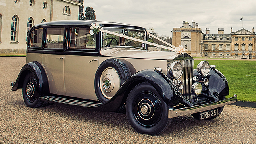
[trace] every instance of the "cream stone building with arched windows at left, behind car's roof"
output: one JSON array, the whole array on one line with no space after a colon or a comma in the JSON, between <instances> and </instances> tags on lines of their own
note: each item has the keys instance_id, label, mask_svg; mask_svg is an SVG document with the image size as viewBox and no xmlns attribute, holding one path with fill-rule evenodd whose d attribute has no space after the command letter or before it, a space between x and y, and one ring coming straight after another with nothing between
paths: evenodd
<instances>
[{"instance_id":1,"label":"cream stone building with arched windows at left, behind car's roof","mask_svg":"<svg viewBox=\"0 0 256 144\"><path fill-rule=\"evenodd\" d=\"M27 33L41 22L77 20L79 0L0 0L0 54L26 53Z\"/></svg>"}]
</instances>

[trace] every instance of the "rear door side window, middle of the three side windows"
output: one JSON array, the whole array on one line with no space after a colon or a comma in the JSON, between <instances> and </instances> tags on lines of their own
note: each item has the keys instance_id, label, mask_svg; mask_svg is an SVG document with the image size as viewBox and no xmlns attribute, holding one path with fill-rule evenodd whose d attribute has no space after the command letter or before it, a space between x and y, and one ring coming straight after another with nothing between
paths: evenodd
<instances>
[{"instance_id":1,"label":"rear door side window, middle of the three side windows","mask_svg":"<svg viewBox=\"0 0 256 144\"><path fill-rule=\"evenodd\" d=\"M64 41L65 28L47 28L46 29L46 49L62 49Z\"/></svg>"}]
</instances>

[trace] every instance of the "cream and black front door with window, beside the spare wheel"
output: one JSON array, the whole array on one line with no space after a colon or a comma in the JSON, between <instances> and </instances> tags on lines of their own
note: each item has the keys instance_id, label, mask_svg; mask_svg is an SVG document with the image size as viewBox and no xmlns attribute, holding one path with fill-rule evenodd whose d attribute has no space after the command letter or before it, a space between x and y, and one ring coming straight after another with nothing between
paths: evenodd
<instances>
[{"instance_id":1,"label":"cream and black front door with window, beside the spare wheel","mask_svg":"<svg viewBox=\"0 0 256 144\"><path fill-rule=\"evenodd\" d=\"M69 28L69 42L65 50L64 82L66 96L97 100L94 77L98 69L96 34L89 34L89 26Z\"/></svg>"}]
</instances>

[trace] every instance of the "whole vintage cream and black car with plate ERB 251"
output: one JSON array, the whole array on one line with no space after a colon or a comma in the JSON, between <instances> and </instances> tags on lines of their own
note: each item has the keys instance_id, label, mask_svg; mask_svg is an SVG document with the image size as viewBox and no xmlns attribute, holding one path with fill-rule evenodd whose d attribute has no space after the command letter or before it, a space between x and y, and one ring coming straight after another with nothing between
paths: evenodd
<instances>
[{"instance_id":1,"label":"whole vintage cream and black car with plate ERB 251","mask_svg":"<svg viewBox=\"0 0 256 144\"><path fill-rule=\"evenodd\" d=\"M148 42L152 34L145 28L97 23L65 20L31 28L26 64L11 83L14 91L23 89L28 107L43 101L97 111L126 107L135 130L155 135L174 117L211 120L236 101L236 95L226 99L228 82L207 61L193 69L187 53ZM150 45L172 51L148 51Z\"/></svg>"}]
</instances>

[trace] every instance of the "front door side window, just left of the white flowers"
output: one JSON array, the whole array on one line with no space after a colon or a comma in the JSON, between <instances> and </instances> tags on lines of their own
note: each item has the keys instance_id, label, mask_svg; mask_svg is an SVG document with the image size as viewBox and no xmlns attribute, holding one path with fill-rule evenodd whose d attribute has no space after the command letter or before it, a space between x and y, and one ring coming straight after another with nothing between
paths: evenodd
<instances>
[{"instance_id":1,"label":"front door side window, just left of the white flowers","mask_svg":"<svg viewBox=\"0 0 256 144\"><path fill-rule=\"evenodd\" d=\"M90 28L70 28L69 49L96 49L96 34L90 34Z\"/></svg>"}]
</instances>

